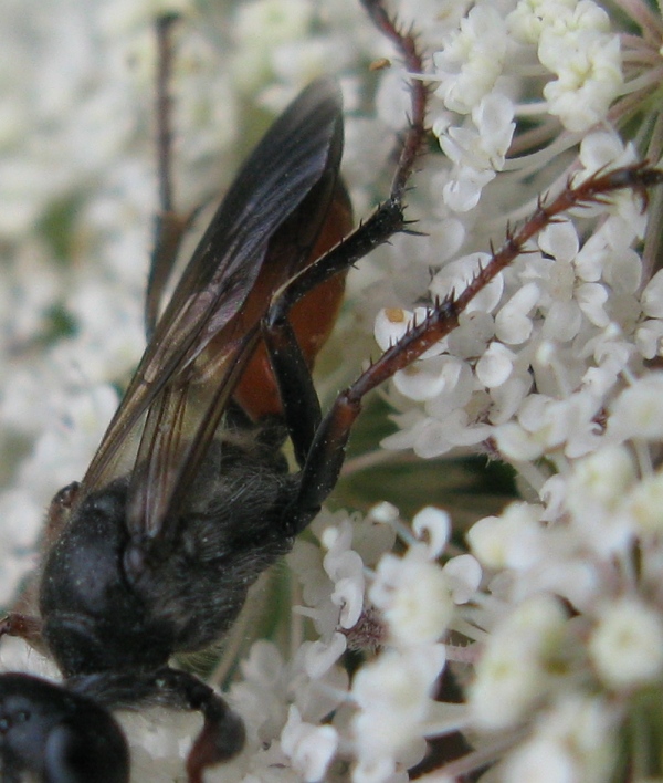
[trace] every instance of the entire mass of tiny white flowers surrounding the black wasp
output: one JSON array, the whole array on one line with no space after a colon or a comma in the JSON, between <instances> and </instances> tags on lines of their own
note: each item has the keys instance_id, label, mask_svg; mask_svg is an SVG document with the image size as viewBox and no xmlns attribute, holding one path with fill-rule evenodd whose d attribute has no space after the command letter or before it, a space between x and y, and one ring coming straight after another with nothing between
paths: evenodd
<instances>
[{"instance_id":1,"label":"entire mass of tiny white flowers surrounding the black wasp","mask_svg":"<svg viewBox=\"0 0 663 783\"><path fill-rule=\"evenodd\" d=\"M639 39L620 35L593 0L386 2L434 52L429 119L443 155L422 160L409 195L425 236L397 237L348 281L359 306L339 323L344 367L325 393L369 355L376 314L385 349L423 320L422 303L457 295L485 268L491 240L526 220L540 192L661 157L651 106L663 22L642 3L619 3L644 28ZM348 109L344 176L365 213L385 194L409 112L397 67L375 76L377 118L367 112L364 65L393 52L355 0L28 4L32 13L9 0L0 30L6 604L34 565L41 510L84 472L143 347L155 14L182 14L183 207L229 181L251 121L334 70ZM631 129L642 119L631 142L615 130L622 119ZM528 502L476 521L469 551L424 492L411 525L388 505L366 518L323 512L288 557L301 585L290 649L255 643L230 690L246 749L207 780L404 783L408 769L433 769L427 748L434 756L438 738L456 732L472 748L438 758L428 780L488 765L486 781L601 783L629 753L640 763L648 743L661 758L663 376L652 367L663 355L663 271L661 219L648 229L643 206L643 194L624 191L548 225L455 331L397 374L385 396L399 431L385 446L488 453L515 468ZM35 652L21 662L6 640L0 657L11 669L45 666ZM446 700L446 677L461 703ZM140 717L124 720L136 781L181 775L198 716L167 739L130 722Z\"/></svg>"}]
</instances>

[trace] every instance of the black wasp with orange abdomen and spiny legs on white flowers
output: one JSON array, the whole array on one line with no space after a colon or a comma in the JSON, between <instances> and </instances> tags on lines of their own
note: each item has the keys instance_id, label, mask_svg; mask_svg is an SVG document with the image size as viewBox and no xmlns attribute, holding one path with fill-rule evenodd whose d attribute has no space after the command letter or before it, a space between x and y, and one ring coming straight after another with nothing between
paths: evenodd
<instances>
[{"instance_id":1,"label":"black wasp with orange abdomen and spiny legs on white flowers","mask_svg":"<svg viewBox=\"0 0 663 783\"><path fill-rule=\"evenodd\" d=\"M420 72L413 39L380 0L365 6ZM422 83L412 98L391 195L350 231L339 92L332 80L311 84L238 174L164 313L148 315L154 333L85 477L52 501L39 617L13 614L0 628L45 647L64 677L62 687L0 677L7 783L24 773L127 781L126 740L109 712L123 707L202 712L191 783L242 749L241 719L168 664L227 633L248 588L334 488L361 397L403 365L361 376L322 417L311 366L344 274L404 230L402 194L424 137ZM170 265L164 274L155 259L152 314Z\"/></svg>"}]
</instances>

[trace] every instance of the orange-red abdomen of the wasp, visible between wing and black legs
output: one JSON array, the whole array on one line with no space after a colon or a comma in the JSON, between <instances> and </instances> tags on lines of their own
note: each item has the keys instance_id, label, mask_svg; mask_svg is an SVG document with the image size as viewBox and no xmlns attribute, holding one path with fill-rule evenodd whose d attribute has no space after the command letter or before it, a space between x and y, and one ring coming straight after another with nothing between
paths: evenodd
<instances>
[{"instance_id":1,"label":"orange-red abdomen of the wasp, visible between wing and black legs","mask_svg":"<svg viewBox=\"0 0 663 783\"><path fill-rule=\"evenodd\" d=\"M352 215L345 188L338 188L337 198L332 202L320 234L305 267L330 250L346 237L352 228ZM264 270L265 276L270 271ZM326 283L316 286L292 309L290 322L295 331L302 353L309 368L315 357L334 328L343 302L346 274L337 274ZM259 276L255 290L267 284L263 273ZM270 366L267 352L261 341L242 374L234 392L234 399L252 419L257 420L267 414L281 414L276 380Z\"/></svg>"}]
</instances>

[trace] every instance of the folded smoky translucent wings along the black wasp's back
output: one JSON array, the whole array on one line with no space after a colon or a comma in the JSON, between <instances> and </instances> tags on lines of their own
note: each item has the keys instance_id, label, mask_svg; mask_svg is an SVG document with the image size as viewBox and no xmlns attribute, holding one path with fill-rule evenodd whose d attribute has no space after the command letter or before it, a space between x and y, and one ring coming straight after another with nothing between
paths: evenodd
<instances>
[{"instance_id":1,"label":"folded smoky translucent wings along the black wasp's back","mask_svg":"<svg viewBox=\"0 0 663 783\"><path fill-rule=\"evenodd\" d=\"M83 480L86 494L125 472L125 450L136 448L144 425L129 498L133 535L159 535L186 492L272 293L319 231L341 148L338 87L318 80L267 130L193 252ZM270 284L252 296L261 274Z\"/></svg>"}]
</instances>

